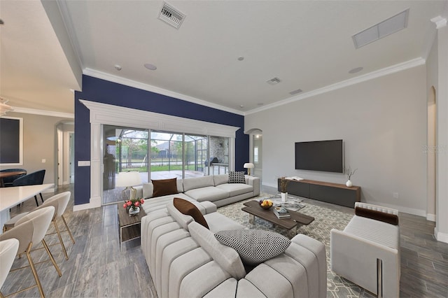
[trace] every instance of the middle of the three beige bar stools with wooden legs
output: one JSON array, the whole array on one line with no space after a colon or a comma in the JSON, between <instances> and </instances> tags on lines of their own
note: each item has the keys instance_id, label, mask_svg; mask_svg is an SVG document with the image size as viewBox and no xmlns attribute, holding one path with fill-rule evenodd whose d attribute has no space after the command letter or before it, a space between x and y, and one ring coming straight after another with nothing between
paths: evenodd
<instances>
[{"instance_id":1,"label":"middle of the three beige bar stools with wooden legs","mask_svg":"<svg viewBox=\"0 0 448 298\"><path fill-rule=\"evenodd\" d=\"M37 287L39 293L41 294L41 297L45 297L43 294L43 288L41 285L41 281L38 278L36 267L34 265L33 259L31 257L31 249L34 245L37 243L42 243L43 247L47 251L48 256L50 257L50 260L55 267L57 274L62 276L62 272L57 267L57 264L55 262L55 258L52 256L50 249L47 246L47 243L43 239L45 236L45 233L48 230L48 227L50 226L51 220L53 218L53 215L55 214L55 207L48 206L45 208L40 208L36 211L30 212L24 217L20 218L17 225L13 227L13 229L10 229L6 231L5 233L0 235L0 241L6 240L6 239L18 239L19 241L19 248L18 248L18 255L26 254L27 259L29 262L29 266L31 267L31 271L34 276L34 280L36 281L36 285L31 285L28 288L19 290L18 292L11 293L10 295L17 294L19 292L25 292L26 290L29 290L31 288ZM25 267L20 267L18 269L23 269ZM14 269L12 271L18 270ZM7 296L10 296L7 295Z\"/></svg>"}]
</instances>

